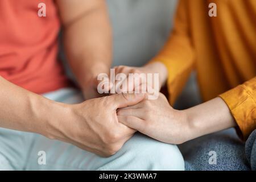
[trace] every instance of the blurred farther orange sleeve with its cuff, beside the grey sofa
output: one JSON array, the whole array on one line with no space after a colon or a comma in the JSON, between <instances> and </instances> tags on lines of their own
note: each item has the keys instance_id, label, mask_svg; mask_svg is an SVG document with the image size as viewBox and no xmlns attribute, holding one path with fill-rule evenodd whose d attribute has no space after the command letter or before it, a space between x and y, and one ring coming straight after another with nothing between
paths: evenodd
<instances>
[{"instance_id":1,"label":"blurred farther orange sleeve with its cuff, beside the grey sofa","mask_svg":"<svg viewBox=\"0 0 256 182\"><path fill-rule=\"evenodd\" d=\"M195 59L189 35L187 7L187 0L179 1L174 30L162 51L151 61L163 63L168 69L167 88L171 104L174 104L183 89Z\"/></svg>"}]
</instances>

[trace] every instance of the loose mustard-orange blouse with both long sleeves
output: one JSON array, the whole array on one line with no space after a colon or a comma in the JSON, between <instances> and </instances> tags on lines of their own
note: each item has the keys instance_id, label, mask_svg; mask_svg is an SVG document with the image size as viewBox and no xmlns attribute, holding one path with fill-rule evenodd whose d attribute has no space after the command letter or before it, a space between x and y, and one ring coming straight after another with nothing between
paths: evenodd
<instances>
[{"instance_id":1,"label":"loose mustard-orange blouse with both long sleeves","mask_svg":"<svg viewBox=\"0 0 256 182\"><path fill-rule=\"evenodd\" d=\"M216 3L216 17L208 15L209 3ZM256 129L255 0L180 0L174 30L152 61L168 69L171 104L196 69L203 100L219 95L243 138Z\"/></svg>"}]
</instances>

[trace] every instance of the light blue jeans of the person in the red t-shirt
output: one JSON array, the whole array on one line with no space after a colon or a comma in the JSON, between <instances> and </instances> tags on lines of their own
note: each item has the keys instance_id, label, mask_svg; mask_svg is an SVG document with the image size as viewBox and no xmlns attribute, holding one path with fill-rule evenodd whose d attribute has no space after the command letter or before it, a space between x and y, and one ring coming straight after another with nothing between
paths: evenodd
<instances>
[{"instance_id":1,"label":"light blue jeans of the person in the red t-shirt","mask_svg":"<svg viewBox=\"0 0 256 182\"><path fill-rule=\"evenodd\" d=\"M43 96L68 104L83 101L81 93L70 88ZM40 162L42 157L45 157L45 163ZM101 158L72 144L50 140L42 135L0 129L0 169L184 170L184 160L177 146L142 134L135 134L117 154Z\"/></svg>"}]
</instances>

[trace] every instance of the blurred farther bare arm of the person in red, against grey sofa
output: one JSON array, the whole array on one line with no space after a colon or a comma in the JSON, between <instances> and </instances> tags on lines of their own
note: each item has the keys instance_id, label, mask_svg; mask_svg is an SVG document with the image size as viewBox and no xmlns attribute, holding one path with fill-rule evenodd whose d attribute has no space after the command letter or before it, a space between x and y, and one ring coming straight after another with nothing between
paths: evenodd
<instances>
[{"instance_id":1,"label":"blurred farther bare arm of the person in red, against grey sofa","mask_svg":"<svg viewBox=\"0 0 256 182\"><path fill-rule=\"evenodd\" d=\"M86 98L97 97L97 76L112 64L112 31L104 0L58 0L69 64Z\"/></svg>"}]
</instances>

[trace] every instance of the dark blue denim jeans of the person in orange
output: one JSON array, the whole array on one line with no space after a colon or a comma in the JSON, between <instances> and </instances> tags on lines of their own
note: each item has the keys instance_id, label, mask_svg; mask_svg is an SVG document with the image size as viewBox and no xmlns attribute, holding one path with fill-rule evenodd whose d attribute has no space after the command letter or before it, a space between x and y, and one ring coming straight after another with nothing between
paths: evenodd
<instances>
[{"instance_id":1,"label":"dark blue denim jeans of the person in orange","mask_svg":"<svg viewBox=\"0 0 256 182\"><path fill-rule=\"evenodd\" d=\"M186 170L256 170L256 130L246 143L229 129L191 140L179 148Z\"/></svg>"}]
</instances>

